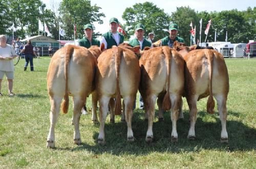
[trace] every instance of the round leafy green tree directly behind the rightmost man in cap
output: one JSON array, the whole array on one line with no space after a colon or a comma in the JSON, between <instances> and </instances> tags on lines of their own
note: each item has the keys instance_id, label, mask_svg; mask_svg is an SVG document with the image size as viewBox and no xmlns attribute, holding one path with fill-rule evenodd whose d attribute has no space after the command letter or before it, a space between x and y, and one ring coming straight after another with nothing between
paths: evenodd
<instances>
[{"instance_id":1,"label":"round leafy green tree directly behind the rightmost man in cap","mask_svg":"<svg viewBox=\"0 0 256 169\"><path fill-rule=\"evenodd\" d=\"M184 39L185 44L190 45L190 22L193 22L193 27L197 27L196 36L199 35L200 25L197 13L194 9L189 7L177 7L176 12L173 12L171 15L171 21L177 23L179 26L178 36ZM199 36L197 36L199 37Z\"/></svg>"}]
</instances>

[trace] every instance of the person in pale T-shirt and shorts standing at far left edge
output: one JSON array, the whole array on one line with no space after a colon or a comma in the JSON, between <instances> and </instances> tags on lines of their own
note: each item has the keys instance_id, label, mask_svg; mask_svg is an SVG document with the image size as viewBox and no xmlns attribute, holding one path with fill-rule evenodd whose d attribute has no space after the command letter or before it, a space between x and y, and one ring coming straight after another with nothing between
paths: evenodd
<instances>
[{"instance_id":1,"label":"person in pale T-shirt and shorts standing at far left edge","mask_svg":"<svg viewBox=\"0 0 256 169\"><path fill-rule=\"evenodd\" d=\"M17 57L15 49L11 45L6 44L7 38L5 35L0 35L0 97L2 80L4 75L7 76L9 96L14 96L12 92L14 79L13 59Z\"/></svg>"}]
</instances>

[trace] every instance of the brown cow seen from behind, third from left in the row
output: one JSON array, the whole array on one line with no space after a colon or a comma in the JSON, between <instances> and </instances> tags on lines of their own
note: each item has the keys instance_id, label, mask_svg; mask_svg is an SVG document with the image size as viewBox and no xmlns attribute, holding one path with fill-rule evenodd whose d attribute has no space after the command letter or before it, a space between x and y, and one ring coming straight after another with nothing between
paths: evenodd
<instances>
[{"instance_id":1,"label":"brown cow seen from behind, third from left in the row","mask_svg":"<svg viewBox=\"0 0 256 169\"><path fill-rule=\"evenodd\" d=\"M171 139L173 142L177 142L176 123L184 90L184 60L176 50L168 46L161 46L144 51L139 62L141 67L139 91L148 116L146 142L153 140L153 121L157 97L159 119L163 118L163 110L171 109L170 116L173 125Z\"/></svg>"}]
</instances>

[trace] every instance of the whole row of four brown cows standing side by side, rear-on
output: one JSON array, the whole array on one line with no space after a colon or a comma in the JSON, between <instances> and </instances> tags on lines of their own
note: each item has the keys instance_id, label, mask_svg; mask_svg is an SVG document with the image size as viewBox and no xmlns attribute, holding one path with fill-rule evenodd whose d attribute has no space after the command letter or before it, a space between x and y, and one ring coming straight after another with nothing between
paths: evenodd
<instances>
[{"instance_id":1,"label":"whole row of four brown cows standing side by side, rear-on","mask_svg":"<svg viewBox=\"0 0 256 169\"><path fill-rule=\"evenodd\" d=\"M138 90L144 102L145 118L148 119L146 142L153 140L156 99L159 121L163 120L163 111L170 109L171 140L177 142L177 120L183 118L182 96L189 106L190 128L187 137L196 137L197 101L209 96L207 111L214 113L215 97L222 124L221 142L228 142L226 101L229 80L224 58L219 52L196 49L196 46L187 47L176 42L174 48L160 46L141 51L139 46L121 44L103 50L103 44L89 49L68 45L53 55L47 74L51 103L47 147L55 146L54 129L60 107L66 114L69 96L73 97L74 144L81 144L79 120L81 109L90 94L94 122L98 122L96 107L99 102L98 143L105 143L104 124L109 107L112 122L115 115L123 111L121 120L127 123L127 140L133 141L133 106Z\"/></svg>"}]
</instances>

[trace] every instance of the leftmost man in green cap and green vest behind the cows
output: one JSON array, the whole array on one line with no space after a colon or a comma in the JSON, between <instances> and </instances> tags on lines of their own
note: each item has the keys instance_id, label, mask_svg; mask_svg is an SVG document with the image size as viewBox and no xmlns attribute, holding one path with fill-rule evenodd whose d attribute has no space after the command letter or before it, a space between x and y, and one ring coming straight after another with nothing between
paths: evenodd
<instances>
[{"instance_id":1,"label":"leftmost man in green cap and green vest behind the cows","mask_svg":"<svg viewBox=\"0 0 256 169\"><path fill-rule=\"evenodd\" d=\"M100 45L99 40L93 38L93 26L91 24L86 24L83 26L84 30L84 37L79 39L78 44L79 46L83 46L86 48L90 48L93 45Z\"/></svg>"}]
</instances>

